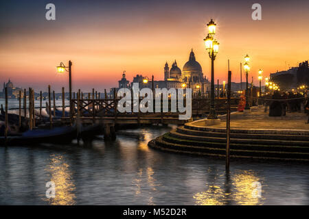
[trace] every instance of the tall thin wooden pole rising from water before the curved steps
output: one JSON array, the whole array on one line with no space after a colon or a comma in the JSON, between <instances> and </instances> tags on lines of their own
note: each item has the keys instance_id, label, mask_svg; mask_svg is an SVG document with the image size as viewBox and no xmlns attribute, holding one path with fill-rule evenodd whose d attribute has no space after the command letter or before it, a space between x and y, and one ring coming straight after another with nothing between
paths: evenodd
<instances>
[{"instance_id":1,"label":"tall thin wooden pole rising from water before the curved steps","mask_svg":"<svg viewBox=\"0 0 309 219\"><path fill-rule=\"evenodd\" d=\"M229 66L229 61L228 61ZM229 70L227 79L227 149L225 156L225 170L229 171L229 140L231 129L231 71Z\"/></svg>"}]
</instances>

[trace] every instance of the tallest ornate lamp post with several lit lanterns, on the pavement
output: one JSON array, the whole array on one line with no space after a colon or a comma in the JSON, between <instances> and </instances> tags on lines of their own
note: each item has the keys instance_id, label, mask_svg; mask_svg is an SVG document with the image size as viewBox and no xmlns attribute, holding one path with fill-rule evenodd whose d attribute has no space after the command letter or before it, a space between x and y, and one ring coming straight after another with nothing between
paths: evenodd
<instances>
[{"instance_id":1,"label":"tallest ornate lamp post with several lit lanterns, on the pavement","mask_svg":"<svg viewBox=\"0 0 309 219\"><path fill-rule=\"evenodd\" d=\"M205 41L205 47L211 59L211 99L210 99L210 110L207 119L218 119L216 114L216 109L214 107L214 60L216 59L216 55L219 50L219 43L214 39L214 35L216 34L216 23L211 19L209 23L207 23L208 34Z\"/></svg>"}]
</instances>

